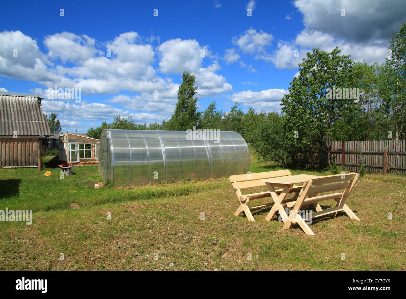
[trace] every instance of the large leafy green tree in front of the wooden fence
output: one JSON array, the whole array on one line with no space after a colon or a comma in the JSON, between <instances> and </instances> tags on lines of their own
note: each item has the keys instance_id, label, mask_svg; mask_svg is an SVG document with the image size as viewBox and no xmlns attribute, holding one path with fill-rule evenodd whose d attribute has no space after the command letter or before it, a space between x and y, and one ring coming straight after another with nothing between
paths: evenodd
<instances>
[{"instance_id":1,"label":"large leafy green tree in front of the wooden fence","mask_svg":"<svg viewBox=\"0 0 406 299\"><path fill-rule=\"evenodd\" d=\"M329 97L326 89L352 88L352 60L349 55L313 49L299 64L299 76L290 82L289 94L282 99L282 125L292 157L304 146L316 146L331 164L332 124L343 117L353 100L337 93ZM331 94L330 94L331 95ZM292 159L294 161L294 159Z\"/></svg>"}]
</instances>

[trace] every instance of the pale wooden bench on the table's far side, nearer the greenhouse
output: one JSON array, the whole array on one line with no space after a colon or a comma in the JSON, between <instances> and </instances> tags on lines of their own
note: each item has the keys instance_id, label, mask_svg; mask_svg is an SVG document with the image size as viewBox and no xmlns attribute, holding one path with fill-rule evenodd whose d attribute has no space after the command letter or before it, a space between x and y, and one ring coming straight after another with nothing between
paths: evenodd
<instances>
[{"instance_id":1,"label":"pale wooden bench on the table's far side, nearer the greenhouse","mask_svg":"<svg viewBox=\"0 0 406 299\"><path fill-rule=\"evenodd\" d=\"M240 201L240 206L238 207L237 211L235 211L234 216L238 217L242 212L245 213L248 221L255 221L253 215L251 214L252 210L260 209L262 207L268 207L273 205L273 201L270 203L265 203L263 205L257 205L255 207L248 207L248 202L253 199L260 199L265 197L271 197L271 193L269 190L251 194L242 194L241 190L248 189L248 188L256 188L256 187L266 187L266 184L261 182L261 179L268 179L273 177L284 177L292 175L289 170L276 170L276 171L268 171L268 172L257 172L257 173L249 173L246 175L232 175L230 177L231 183L233 183L233 188L235 190L235 194L237 194L238 201ZM294 198L291 200L296 200L298 198L299 192L302 189L302 186L293 187L289 193L296 193ZM277 194L280 194L283 189L276 190Z\"/></svg>"}]
</instances>

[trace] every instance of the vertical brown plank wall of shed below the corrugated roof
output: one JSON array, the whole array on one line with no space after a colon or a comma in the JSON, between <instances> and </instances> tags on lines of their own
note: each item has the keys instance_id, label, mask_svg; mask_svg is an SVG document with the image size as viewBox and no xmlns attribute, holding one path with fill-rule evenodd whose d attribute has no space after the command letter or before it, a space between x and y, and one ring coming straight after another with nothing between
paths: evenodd
<instances>
[{"instance_id":1,"label":"vertical brown plank wall of shed below the corrugated roof","mask_svg":"<svg viewBox=\"0 0 406 299\"><path fill-rule=\"evenodd\" d=\"M0 138L1 166L37 165L37 138Z\"/></svg>"}]
</instances>

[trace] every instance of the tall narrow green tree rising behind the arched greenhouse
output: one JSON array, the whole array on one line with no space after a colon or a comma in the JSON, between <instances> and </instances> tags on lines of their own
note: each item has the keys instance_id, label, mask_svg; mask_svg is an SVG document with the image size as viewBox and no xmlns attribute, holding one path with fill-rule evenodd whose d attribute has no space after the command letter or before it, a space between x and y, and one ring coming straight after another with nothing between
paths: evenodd
<instances>
[{"instance_id":1,"label":"tall narrow green tree rising behind the arched greenhouse","mask_svg":"<svg viewBox=\"0 0 406 299\"><path fill-rule=\"evenodd\" d=\"M195 74L184 72L182 75L182 84L177 93L177 104L175 113L166 124L166 129L174 131L186 131L193 129L199 124L201 112L197 111L197 87L194 86Z\"/></svg>"}]
</instances>

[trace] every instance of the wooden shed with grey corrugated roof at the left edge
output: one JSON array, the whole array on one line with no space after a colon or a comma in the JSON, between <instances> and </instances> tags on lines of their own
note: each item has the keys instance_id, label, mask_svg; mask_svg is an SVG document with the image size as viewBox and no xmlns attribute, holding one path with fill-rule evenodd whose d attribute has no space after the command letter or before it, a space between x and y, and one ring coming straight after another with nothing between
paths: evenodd
<instances>
[{"instance_id":1,"label":"wooden shed with grey corrugated roof at the left edge","mask_svg":"<svg viewBox=\"0 0 406 299\"><path fill-rule=\"evenodd\" d=\"M50 135L38 94L0 92L0 165L42 169L41 144Z\"/></svg>"}]
</instances>

